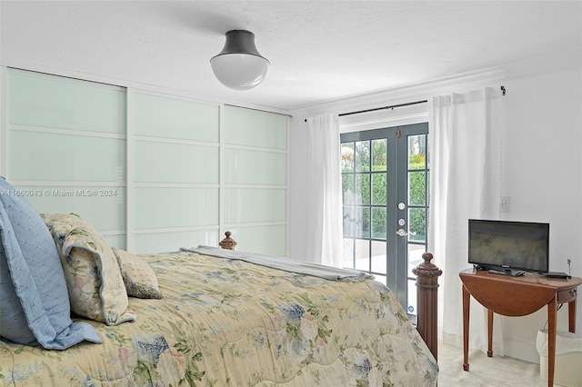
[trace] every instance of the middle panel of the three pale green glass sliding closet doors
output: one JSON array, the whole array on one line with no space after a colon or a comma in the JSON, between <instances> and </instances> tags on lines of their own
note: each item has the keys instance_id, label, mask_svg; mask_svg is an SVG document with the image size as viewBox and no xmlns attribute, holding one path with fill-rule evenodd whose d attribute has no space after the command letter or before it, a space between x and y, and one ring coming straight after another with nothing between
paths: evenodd
<instances>
[{"instance_id":1,"label":"middle panel of the three pale green glass sliding closet doors","mask_svg":"<svg viewBox=\"0 0 582 387\"><path fill-rule=\"evenodd\" d=\"M219 106L128 93L128 244L136 253L216 246Z\"/></svg>"}]
</instances>

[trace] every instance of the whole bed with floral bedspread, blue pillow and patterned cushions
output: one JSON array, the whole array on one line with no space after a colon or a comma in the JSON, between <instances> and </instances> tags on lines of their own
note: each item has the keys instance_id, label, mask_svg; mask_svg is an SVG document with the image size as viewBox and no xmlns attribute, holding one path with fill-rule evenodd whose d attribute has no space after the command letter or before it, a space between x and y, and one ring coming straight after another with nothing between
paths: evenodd
<instances>
[{"instance_id":1,"label":"whole bed with floral bedspread, blue pillow and patterned cushions","mask_svg":"<svg viewBox=\"0 0 582 387\"><path fill-rule=\"evenodd\" d=\"M43 297L58 292L46 291L38 274L48 260L36 272L35 262L26 261L31 227L16 224L2 199L4 265L12 275L14 234L35 280L26 290L35 284L35 297L50 303ZM0 385L437 384L435 356L393 294L367 275L206 246L135 255L106 245L75 214L39 219L55 245L58 267L50 266L53 277L63 273L72 317L59 325L49 316L46 324L55 329L42 332L53 335L48 339L37 332L32 342L4 337ZM0 276L0 285L9 279ZM48 312L62 306L59 297ZM28 302L22 302L27 318ZM11 333L0 328L3 336Z\"/></svg>"}]
</instances>

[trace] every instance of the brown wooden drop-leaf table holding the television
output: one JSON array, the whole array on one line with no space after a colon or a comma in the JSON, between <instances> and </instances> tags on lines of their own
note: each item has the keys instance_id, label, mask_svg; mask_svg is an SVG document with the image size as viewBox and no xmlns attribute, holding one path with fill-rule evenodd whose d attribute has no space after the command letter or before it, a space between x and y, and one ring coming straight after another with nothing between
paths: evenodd
<instances>
[{"instance_id":1,"label":"brown wooden drop-leaf table holding the television","mask_svg":"<svg viewBox=\"0 0 582 387\"><path fill-rule=\"evenodd\" d=\"M556 355L556 307L568 304L568 330L576 331L577 286L582 278L546 278L541 275L491 274L468 269L459 273L463 283L463 369L469 371L469 304L471 295L487 308L487 356L492 357L493 313L525 316L547 306L547 385L554 385Z\"/></svg>"}]
</instances>

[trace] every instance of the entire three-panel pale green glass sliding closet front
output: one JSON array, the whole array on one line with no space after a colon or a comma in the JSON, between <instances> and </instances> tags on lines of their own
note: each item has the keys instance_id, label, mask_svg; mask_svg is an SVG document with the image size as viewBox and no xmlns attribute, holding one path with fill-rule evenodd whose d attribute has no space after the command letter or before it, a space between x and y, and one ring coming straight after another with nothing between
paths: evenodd
<instances>
[{"instance_id":1,"label":"entire three-panel pale green glass sliding closet front","mask_svg":"<svg viewBox=\"0 0 582 387\"><path fill-rule=\"evenodd\" d=\"M0 172L133 253L286 256L287 117L0 67Z\"/></svg>"}]
</instances>

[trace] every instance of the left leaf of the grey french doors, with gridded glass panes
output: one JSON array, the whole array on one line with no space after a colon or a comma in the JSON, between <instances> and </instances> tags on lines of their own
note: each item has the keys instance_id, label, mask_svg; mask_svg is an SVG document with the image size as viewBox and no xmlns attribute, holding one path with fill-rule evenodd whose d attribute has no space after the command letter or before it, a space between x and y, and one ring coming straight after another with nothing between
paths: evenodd
<instances>
[{"instance_id":1,"label":"left leaf of the grey french doors, with gridded glass panes","mask_svg":"<svg viewBox=\"0 0 582 387\"><path fill-rule=\"evenodd\" d=\"M394 254L394 231L388 230L388 187L396 187L388 165L395 164L392 130L342 135L342 193L344 216L343 265L374 274L376 281L391 283L388 272ZM392 157L392 162L388 159ZM390 223L391 224L391 223ZM392 224L391 224L392 226Z\"/></svg>"}]
</instances>

